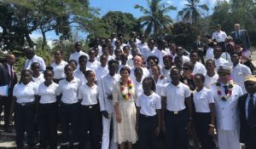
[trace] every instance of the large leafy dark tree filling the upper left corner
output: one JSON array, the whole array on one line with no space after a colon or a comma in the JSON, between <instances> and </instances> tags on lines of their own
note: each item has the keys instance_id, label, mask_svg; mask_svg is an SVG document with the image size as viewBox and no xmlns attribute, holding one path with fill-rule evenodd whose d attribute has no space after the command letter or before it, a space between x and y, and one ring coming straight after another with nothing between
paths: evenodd
<instances>
[{"instance_id":1,"label":"large leafy dark tree filling the upper left corner","mask_svg":"<svg viewBox=\"0 0 256 149\"><path fill-rule=\"evenodd\" d=\"M68 38L71 26L76 20L88 19L93 15L90 13L93 9L89 8L87 0L6 0L1 3L1 7L3 9L1 8L0 15L6 15L0 23L4 36L2 40L9 44L8 41L12 39L9 34L12 33L20 40L26 38L28 45L33 47L30 34L39 30L43 36L41 49L46 45L46 32L55 31L61 34L61 37ZM16 43L25 43L24 40L18 39L15 39ZM13 49L14 46L9 44L5 48Z\"/></svg>"}]
</instances>

